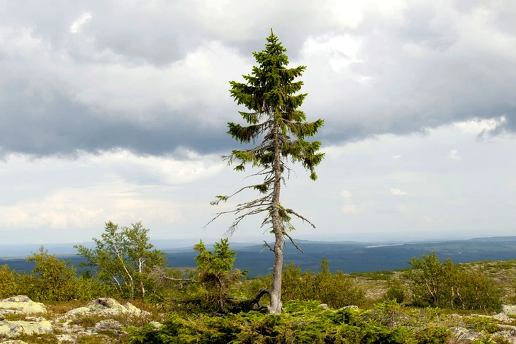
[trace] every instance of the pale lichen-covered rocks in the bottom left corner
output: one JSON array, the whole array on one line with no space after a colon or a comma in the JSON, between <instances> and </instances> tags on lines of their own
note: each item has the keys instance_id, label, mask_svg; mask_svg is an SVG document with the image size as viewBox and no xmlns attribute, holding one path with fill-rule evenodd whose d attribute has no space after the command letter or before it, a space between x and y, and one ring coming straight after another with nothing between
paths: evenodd
<instances>
[{"instance_id":1,"label":"pale lichen-covered rocks in the bottom left corner","mask_svg":"<svg viewBox=\"0 0 516 344\"><path fill-rule=\"evenodd\" d=\"M123 343L128 326L160 326L148 311L99 298L63 312L20 295L0 301L0 343Z\"/></svg>"}]
</instances>

